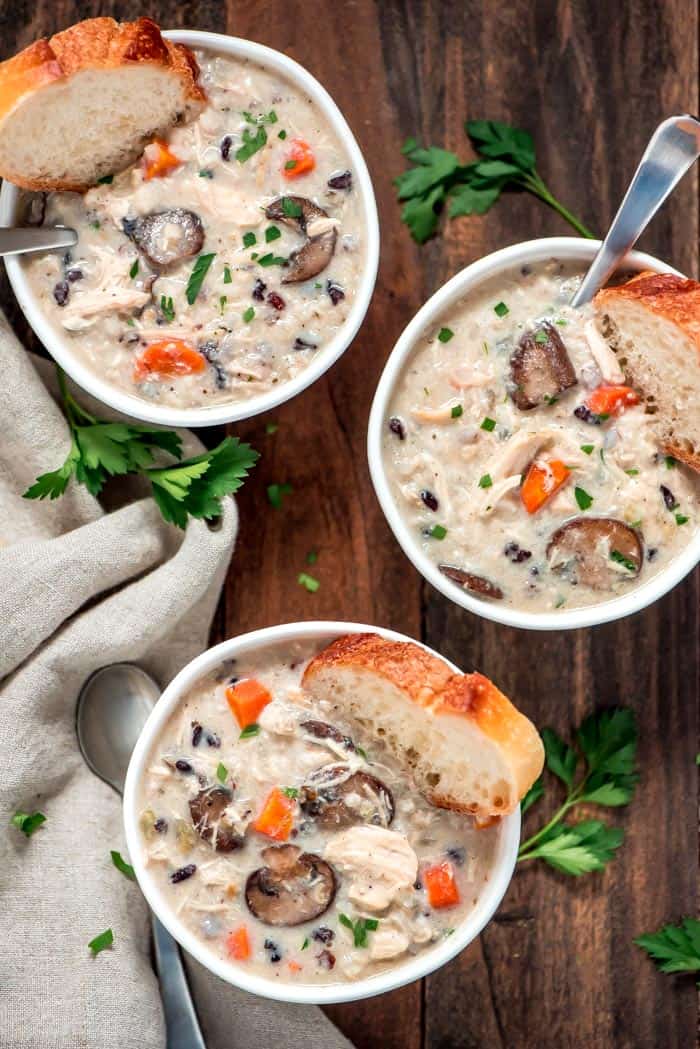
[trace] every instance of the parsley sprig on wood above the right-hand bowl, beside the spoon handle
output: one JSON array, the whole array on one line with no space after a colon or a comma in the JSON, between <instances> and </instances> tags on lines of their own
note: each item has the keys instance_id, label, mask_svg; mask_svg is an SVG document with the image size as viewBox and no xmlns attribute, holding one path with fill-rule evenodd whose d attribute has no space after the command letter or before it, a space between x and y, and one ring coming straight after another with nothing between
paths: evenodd
<instances>
[{"instance_id":1,"label":"parsley sprig on wood above the right-hand bowl, beside the spoon handle","mask_svg":"<svg viewBox=\"0 0 700 1049\"><path fill-rule=\"evenodd\" d=\"M483 215L504 190L526 191L556 211L582 237L593 237L586 226L549 190L535 167L532 135L499 121L467 121L466 132L478 159L461 164L455 153L438 146L420 146L408 138L402 153L413 167L395 178L402 221L413 240L424 243L438 229L447 206L450 218Z\"/></svg>"}]
</instances>

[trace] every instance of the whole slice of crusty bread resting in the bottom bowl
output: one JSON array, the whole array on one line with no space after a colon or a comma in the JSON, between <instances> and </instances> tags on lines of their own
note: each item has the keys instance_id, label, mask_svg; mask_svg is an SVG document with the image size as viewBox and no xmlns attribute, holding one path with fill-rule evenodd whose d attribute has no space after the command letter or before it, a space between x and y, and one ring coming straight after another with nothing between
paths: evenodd
<instances>
[{"instance_id":1,"label":"whole slice of crusty bread resting in the bottom bowl","mask_svg":"<svg viewBox=\"0 0 700 1049\"><path fill-rule=\"evenodd\" d=\"M349 634L312 659L302 685L381 737L443 809L504 816L543 770L542 740L510 700L420 645Z\"/></svg>"}]
</instances>

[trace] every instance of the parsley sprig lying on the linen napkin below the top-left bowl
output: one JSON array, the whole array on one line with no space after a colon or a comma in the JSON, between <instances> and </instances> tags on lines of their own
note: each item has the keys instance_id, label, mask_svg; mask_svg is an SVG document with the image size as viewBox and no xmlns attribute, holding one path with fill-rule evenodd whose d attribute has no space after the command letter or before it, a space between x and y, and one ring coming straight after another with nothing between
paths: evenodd
<instances>
[{"instance_id":1,"label":"parsley sprig lying on the linen napkin below the top-left bowl","mask_svg":"<svg viewBox=\"0 0 700 1049\"><path fill-rule=\"evenodd\" d=\"M60 368L58 376L70 427L70 450L62 466L37 477L24 492L25 499L57 499L73 477L97 496L109 477L141 474L150 481L164 518L185 528L188 517L218 517L221 498L240 488L259 457L238 437L225 437L212 451L183 459L179 434L96 419L68 391ZM177 462L154 466L156 451L167 452Z\"/></svg>"}]
</instances>

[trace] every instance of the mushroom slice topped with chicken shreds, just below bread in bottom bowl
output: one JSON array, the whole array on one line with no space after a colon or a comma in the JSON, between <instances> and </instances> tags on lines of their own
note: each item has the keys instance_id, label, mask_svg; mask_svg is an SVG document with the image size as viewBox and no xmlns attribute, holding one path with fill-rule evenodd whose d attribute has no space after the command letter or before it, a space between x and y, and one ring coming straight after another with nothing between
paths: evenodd
<instances>
[{"instance_id":1,"label":"mushroom slice topped with chicken shreds, just below bread in bottom bowl","mask_svg":"<svg viewBox=\"0 0 700 1049\"><path fill-rule=\"evenodd\" d=\"M299 806L321 827L388 827L394 819L389 788L368 772L351 772L347 765L324 765L314 772L301 788Z\"/></svg>"}]
</instances>

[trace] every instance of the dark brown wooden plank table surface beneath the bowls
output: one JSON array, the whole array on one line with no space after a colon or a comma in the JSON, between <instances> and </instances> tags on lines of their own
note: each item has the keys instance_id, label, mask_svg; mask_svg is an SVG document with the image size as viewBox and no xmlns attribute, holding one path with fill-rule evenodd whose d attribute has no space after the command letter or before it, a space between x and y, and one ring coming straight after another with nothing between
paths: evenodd
<instances>
[{"instance_id":1,"label":"dark brown wooden plank table surface beneath the bowls","mask_svg":"<svg viewBox=\"0 0 700 1049\"><path fill-rule=\"evenodd\" d=\"M529 634L481 621L422 582L401 553L369 483L365 430L396 338L441 283L493 249L570 232L532 197L509 195L417 248L391 186L403 140L422 135L464 154L468 115L526 127L554 192L603 231L657 122L698 111L697 4L0 0L2 57L106 14L149 14L166 27L285 51L344 111L377 192L382 261L355 343L296 401L234 429L262 458L239 500L238 550L213 640L296 619L360 620L483 670L540 727L567 734L593 708L618 703L639 718L641 782L631 807L614 813L625 840L604 873L577 880L518 870L481 939L441 972L330 1014L360 1049L690 1049L694 981L659 975L632 940L698 904L697 573L653 607L595 629ZM697 276L696 172L641 247ZM21 327L6 283L3 302ZM281 511L267 502L271 483L294 486ZM321 581L314 595L296 582L312 548Z\"/></svg>"}]
</instances>

